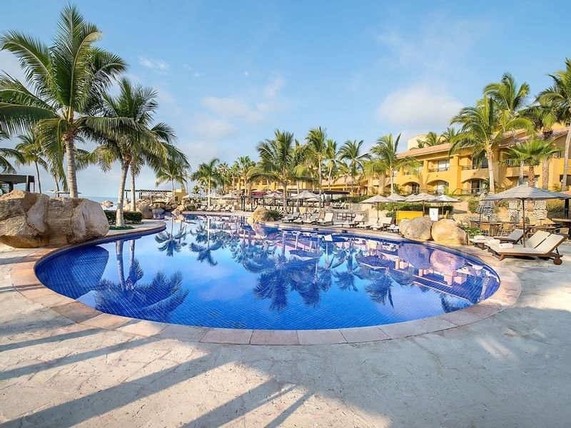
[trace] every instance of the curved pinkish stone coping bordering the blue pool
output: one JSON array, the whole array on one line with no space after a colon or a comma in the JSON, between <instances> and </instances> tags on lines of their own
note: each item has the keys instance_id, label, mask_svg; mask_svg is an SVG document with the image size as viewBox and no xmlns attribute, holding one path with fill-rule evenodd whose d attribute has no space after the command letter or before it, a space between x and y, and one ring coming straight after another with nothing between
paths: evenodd
<instances>
[{"instance_id":1,"label":"curved pinkish stone coping bordering the blue pool","mask_svg":"<svg viewBox=\"0 0 571 428\"><path fill-rule=\"evenodd\" d=\"M276 227L278 223L268 223ZM505 307L515 304L521 294L521 284L517 275L502 265L492 256L482 255L469 247L451 245L435 245L447 250L453 250L470 258L481 260L491 267L500 278L500 286L495 293L482 302L466 307L465 309L449 312L435 317L423 318L388 325L370 327L351 327L329 330L240 330L217 327L193 327L176 325L165 322L138 320L136 318L110 315L92 307L84 305L71 297L60 295L42 284L36 277L36 266L54 255L71 248L85 245L97 245L118 238L129 238L136 235L148 235L164 230L166 225L151 228L138 228L114 233L104 238L87 241L77 245L66 245L60 248L41 248L24 257L10 272L12 286L24 297L36 303L49 307L59 315L66 317L86 327L97 327L106 330L117 330L143 337L158 337L160 339L176 339L187 342L202 342L232 345L337 345L376 342L381 340L394 340L403 337L426 335L433 332L450 330L473 322L484 320L497 314ZM315 228L308 228L315 230ZM340 232L319 228L322 231ZM386 237L398 240L395 235L372 231L354 231L352 235L365 237ZM433 246L433 245L430 245Z\"/></svg>"}]
</instances>

